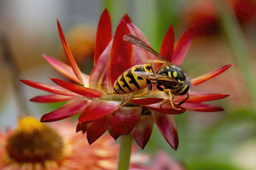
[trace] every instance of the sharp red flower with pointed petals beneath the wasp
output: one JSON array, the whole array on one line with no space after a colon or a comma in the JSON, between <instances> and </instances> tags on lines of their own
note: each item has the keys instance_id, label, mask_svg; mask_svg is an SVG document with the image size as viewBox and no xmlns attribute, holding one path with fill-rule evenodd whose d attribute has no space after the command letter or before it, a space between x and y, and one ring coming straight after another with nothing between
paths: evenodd
<instances>
[{"instance_id":1,"label":"sharp red flower with pointed petals beneath the wasp","mask_svg":"<svg viewBox=\"0 0 256 170\"><path fill-rule=\"evenodd\" d=\"M153 92L147 97L132 99L131 103L120 108L115 113L113 111L121 104L124 95L108 95L113 89L116 78L125 70L134 65L146 64L150 60L156 60L152 53L147 52L139 46L132 45L123 40L124 34L132 34L145 43L148 43L140 29L132 24L131 19L125 15L116 28L114 38L111 38L111 20L107 10L104 10L100 17L95 44L95 66L90 76L81 73L79 67L70 52L67 42L63 36L60 23L58 30L61 42L67 54L70 66L63 64L59 60L44 55L45 60L62 74L75 81L79 85L67 81L51 78L57 86L45 85L29 80L20 80L36 89L51 92L51 95L33 97L31 101L40 103L51 103L58 101L68 101L66 104L45 114L42 122L52 122L63 118L71 117L81 113L77 131L87 132L88 142L91 144L97 140L106 130L117 139L121 134L125 135L131 132L135 141L144 148L147 144L154 122L159 127L164 138L177 150L178 135L175 124L175 114L184 113L186 110L193 111L222 111L220 106L211 106L205 104L205 101L212 101L227 97L225 94L203 94L198 92L189 92L189 99L178 106L184 99L184 96L176 96L173 99L175 107L179 110L173 110L166 101L166 94L153 89ZM180 66L188 51L193 35L193 27L186 31L179 41L174 45L174 31L172 25L164 36L160 54L166 59ZM191 85L195 86L202 83L228 69L231 64L223 66L216 71L204 74L191 80ZM154 66L157 69L159 66ZM160 97L154 97L154 96Z\"/></svg>"}]
</instances>

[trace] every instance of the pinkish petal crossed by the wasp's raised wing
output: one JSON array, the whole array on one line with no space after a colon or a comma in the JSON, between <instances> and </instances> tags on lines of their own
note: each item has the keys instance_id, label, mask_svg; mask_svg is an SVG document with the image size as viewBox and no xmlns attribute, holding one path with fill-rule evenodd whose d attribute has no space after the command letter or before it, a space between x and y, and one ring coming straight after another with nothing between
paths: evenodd
<instances>
[{"instance_id":1,"label":"pinkish petal crossed by the wasp's raised wing","mask_svg":"<svg viewBox=\"0 0 256 170\"><path fill-rule=\"evenodd\" d=\"M127 24L129 27L129 30L131 31L131 34L133 36L136 36L140 38L142 41L147 43L147 45L150 45L148 43L147 38L143 35L143 33L136 27L134 24ZM147 50L144 50L140 46L133 45L133 56L134 56L134 65L140 65L148 63L149 60L156 60L157 58ZM156 70L156 69L155 69Z\"/></svg>"}]
</instances>

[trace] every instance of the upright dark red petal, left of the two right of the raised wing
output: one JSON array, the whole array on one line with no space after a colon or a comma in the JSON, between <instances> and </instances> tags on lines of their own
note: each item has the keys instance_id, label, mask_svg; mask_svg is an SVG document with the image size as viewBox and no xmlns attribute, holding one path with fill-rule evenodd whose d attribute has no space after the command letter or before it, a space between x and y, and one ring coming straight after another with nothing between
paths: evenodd
<instances>
[{"instance_id":1,"label":"upright dark red petal, left of the two right of the raised wing","mask_svg":"<svg viewBox=\"0 0 256 170\"><path fill-rule=\"evenodd\" d=\"M164 35L163 43L160 48L159 54L164 57L164 59L172 62L173 55L173 46L174 46L174 30L172 25L168 28L166 34Z\"/></svg>"}]
</instances>

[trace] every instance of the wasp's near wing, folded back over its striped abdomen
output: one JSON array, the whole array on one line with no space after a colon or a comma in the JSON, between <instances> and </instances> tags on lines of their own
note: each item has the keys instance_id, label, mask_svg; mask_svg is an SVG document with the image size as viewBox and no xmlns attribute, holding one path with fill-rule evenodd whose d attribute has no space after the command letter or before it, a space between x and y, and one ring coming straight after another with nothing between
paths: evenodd
<instances>
[{"instance_id":1,"label":"wasp's near wing, folded back over its striped abdomen","mask_svg":"<svg viewBox=\"0 0 256 170\"><path fill-rule=\"evenodd\" d=\"M152 81L168 81L168 82L177 82L174 78L169 76L164 76L163 74L152 73L147 71L133 71L133 73L141 76L143 78L147 78Z\"/></svg>"}]
</instances>

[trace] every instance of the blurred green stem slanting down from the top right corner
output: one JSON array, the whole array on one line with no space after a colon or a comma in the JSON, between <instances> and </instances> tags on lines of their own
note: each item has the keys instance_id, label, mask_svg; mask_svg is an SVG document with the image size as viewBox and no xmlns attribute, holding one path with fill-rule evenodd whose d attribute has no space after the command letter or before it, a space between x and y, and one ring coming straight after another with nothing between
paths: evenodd
<instances>
[{"instance_id":1,"label":"blurred green stem slanting down from the top right corner","mask_svg":"<svg viewBox=\"0 0 256 170\"><path fill-rule=\"evenodd\" d=\"M253 76L252 67L250 66L250 57L248 49L246 48L246 40L244 39L243 32L236 19L234 11L228 6L227 1L216 0L216 6L220 13L221 25L230 43L237 65L240 67L248 85L248 89L250 90L253 101L253 110L256 111L255 77Z\"/></svg>"}]
</instances>

